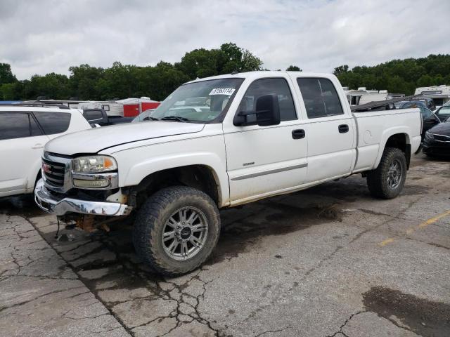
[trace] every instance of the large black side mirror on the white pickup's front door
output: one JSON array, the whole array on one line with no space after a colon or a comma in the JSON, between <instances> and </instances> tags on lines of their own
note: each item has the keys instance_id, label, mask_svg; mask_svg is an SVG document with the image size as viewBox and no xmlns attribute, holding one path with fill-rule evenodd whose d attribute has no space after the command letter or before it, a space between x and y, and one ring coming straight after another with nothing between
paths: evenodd
<instances>
[{"instance_id":1,"label":"large black side mirror on the white pickup's front door","mask_svg":"<svg viewBox=\"0 0 450 337\"><path fill-rule=\"evenodd\" d=\"M278 95L260 96L255 111L241 111L233 119L235 126L269 126L280 124L280 106Z\"/></svg>"}]
</instances>

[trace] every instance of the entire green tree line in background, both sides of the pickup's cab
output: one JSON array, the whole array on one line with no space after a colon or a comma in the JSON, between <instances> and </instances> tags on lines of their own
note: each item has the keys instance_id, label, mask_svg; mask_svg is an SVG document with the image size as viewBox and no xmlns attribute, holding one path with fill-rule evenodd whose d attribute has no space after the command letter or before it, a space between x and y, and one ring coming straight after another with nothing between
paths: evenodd
<instances>
[{"instance_id":1,"label":"entire green tree line in background, both sides of the pickup's cab","mask_svg":"<svg viewBox=\"0 0 450 337\"><path fill-rule=\"evenodd\" d=\"M199 48L186 53L174 64L160 61L155 66L138 67L114 62L101 68L78 65L62 74L34 75L18 81L11 66L0 63L0 100L34 100L37 96L54 99L111 100L148 96L164 100L175 88L196 78L231 72L263 70L262 60L233 43L217 49ZM302 71L290 65L287 70ZM450 55L392 60L373 67L336 67L334 74L343 86L387 89L391 93L413 94L419 86L450 85Z\"/></svg>"}]
</instances>

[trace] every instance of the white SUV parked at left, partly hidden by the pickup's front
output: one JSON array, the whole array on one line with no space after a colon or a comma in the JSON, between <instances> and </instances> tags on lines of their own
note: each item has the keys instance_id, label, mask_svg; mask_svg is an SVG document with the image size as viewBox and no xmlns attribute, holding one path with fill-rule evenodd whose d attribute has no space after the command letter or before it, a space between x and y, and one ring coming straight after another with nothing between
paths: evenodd
<instances>
[{"instance_id":1,"label":"white SUV parked at left, partly hidden by the pickup's front","mask_svg":"<svg viewBox=\"0 0 450 337\"><path fill-rule=\"evenodd\" d=\"M0 197L32 193L41 175L44 145L89 128L76 109L0 105Z\"/></svg>"}]
</instances>

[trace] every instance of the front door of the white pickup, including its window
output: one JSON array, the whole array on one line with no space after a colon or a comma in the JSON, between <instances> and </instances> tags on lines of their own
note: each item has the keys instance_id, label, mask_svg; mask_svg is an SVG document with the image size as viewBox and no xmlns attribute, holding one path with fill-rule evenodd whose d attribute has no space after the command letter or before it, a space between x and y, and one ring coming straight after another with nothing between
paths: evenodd
<instances>
[{"instance_id":1,"label":"front door of the white pickup, including its window","mask_svg":"<svg viewBox=\"0 0 450 337\"><path fill-rule=\"evenodd\" d=\"M249 86L238 111L255 111L262 95L278 95L281 123L273 126L224 124L231 204L240 204L289 190L304 183L307 139L295 108L289 77L256 79Z\"/></svg>"}]
</instances>

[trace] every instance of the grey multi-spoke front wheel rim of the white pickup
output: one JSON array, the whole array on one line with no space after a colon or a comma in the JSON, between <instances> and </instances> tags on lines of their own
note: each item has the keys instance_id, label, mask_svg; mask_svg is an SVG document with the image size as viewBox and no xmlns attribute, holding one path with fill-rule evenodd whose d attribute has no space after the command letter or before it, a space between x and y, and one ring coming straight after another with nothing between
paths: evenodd
<instances>
[{"instance_id":1,"label":"grey multi-spoke front wheel rim of the white pickup","mask_svg":"<svg viewBox=\"0 0 450 337\"><path fill-rule=\"evenodd\" d=\"M187 260L203 249L207 235L205 213L195 207L186 206L169 216L162 229L161 242L170 258Z\"/></svg>"}]
</instances>

